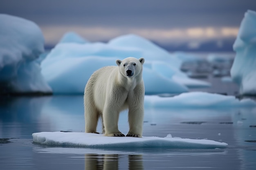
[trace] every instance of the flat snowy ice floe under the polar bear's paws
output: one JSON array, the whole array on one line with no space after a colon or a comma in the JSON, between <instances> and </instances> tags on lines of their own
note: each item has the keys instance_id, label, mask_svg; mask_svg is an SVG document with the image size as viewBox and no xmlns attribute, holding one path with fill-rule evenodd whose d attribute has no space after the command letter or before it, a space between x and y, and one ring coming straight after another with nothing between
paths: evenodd
<instances>
[{"instance_id":1,"label":"flat snowy ice floe under the polar bear's paws","mask_svg":"<svg viewBox=\"0 0 256 170\"><path fill-rule=\"evenodd\" d=\"M102 134L83 132L33 133L33 142L47 146L85 148L225 148L228 144L207 139L176 137L105 137Z\"/></svg>"}]
</instances>

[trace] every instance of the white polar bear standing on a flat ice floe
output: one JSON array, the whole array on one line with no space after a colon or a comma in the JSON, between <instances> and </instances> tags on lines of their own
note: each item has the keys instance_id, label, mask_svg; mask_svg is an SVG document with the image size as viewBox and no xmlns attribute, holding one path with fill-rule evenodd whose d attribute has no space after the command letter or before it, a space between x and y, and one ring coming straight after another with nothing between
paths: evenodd
<instances>
[{"instance_id":1,"label":"white polar bear standing on a flat ice floe","mask_svg":"<svg viewBox=\"0 0 256 170\"><path fill-rule=\"evenodd\" d=\"M118 130L119 113L129 109L130 130L126 136L142 137L144 118L144 82L139 60L128 57L117 60L118 66L106 66L95 71L85 86L85 132L96 132L101 116L102 132L105 136L123 137Z\"/></svg>"}]
</instances>

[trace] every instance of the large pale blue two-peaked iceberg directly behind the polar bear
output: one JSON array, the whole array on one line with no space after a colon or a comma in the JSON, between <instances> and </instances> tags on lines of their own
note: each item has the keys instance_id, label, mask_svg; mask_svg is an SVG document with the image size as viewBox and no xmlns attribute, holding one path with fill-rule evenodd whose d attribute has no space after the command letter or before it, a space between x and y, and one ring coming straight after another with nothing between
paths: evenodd
<instances>
[{"instance_id":1,"label":"large pale blue two-peaked iceberg directly behind the polar bear","mask_svg":"<svg viewBox=\"0 0 256 170\"><path fill-rule=\"evenodd\" d=\"M61 40L41 65L42 74L55 94L83 94L94 71L103 66L115 66L115 60L126 57L145 58L146 94L177 94L187 92L187 87L210 86L187 77L180 71L180 59L137 35L119 36L108 43L81 43L81 38L72 34L68 34L67 39L64 38L65 43Z\"/></svg>"}]
</instances>

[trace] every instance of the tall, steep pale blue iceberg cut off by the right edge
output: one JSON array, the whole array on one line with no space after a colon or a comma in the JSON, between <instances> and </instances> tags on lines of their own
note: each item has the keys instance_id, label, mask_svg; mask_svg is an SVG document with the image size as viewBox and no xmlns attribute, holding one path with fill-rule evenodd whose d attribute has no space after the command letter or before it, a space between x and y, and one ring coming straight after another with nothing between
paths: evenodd
<instances>
[{"instance_id":1,"label":"tall, steep pale blue iceberg cut off by the right edge","mask_svg":"<svg viewBox=\"0 0 256 170\"><path fill-rule=\"evenodd\" d=\"M231 77L240 86L241 95L256 95L256 12L245 13L233 45L236 57Z\"/></svg>"}]
</instances>

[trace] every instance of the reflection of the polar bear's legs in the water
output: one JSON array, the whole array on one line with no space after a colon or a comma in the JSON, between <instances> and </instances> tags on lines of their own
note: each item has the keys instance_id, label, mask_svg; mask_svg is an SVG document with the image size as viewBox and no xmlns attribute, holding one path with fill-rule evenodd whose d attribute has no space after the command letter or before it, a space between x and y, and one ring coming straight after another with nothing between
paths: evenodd
<instances>
[{"instance_id":1,"label":"reflection of the polar bear's legs in the water","mask_svg":"<svg viewBox=\"0 0 256 170\"><path fill-rule=\"evenodd\" d=\"M120 156L85 154L85 170L118 170ZM142 155L128 155L128 169L144 170Z\"/></svg>"}]
</instances>

